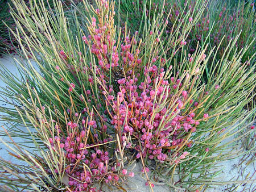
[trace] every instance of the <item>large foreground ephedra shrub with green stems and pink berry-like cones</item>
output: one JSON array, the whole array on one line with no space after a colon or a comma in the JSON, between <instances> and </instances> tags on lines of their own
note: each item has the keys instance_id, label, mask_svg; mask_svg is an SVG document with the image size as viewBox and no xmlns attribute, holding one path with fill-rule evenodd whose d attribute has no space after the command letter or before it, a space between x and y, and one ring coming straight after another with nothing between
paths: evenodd
<instances>
[{"instance_id":1,"label":"large foreground ephedra shrub with green stems and pink berry-like cones","mask_svg":"<svg viewBox=\"0 0 256 192\"><path fill-rule=\"evenodd\" d=\"M157 183L201 190L252 182L214 180L217 163L245 154L234 145L254 132L245 131L255 111L244 110L255 89L254 69L241 63L248 47L232 60L209 60L218 50L207 45L188 55L182 38L194 23L183 26L181 37L168 35L161 14L143 27L143 36L129 26L122 35L112 1L83 1L68 15L61 2L54 9L43 1L31 2L30 9L23 1L13 3L18 13L12 12L17 26L12 32L27 60L19 63L22 80L1 73L8 85L1 94L14 107L1 111L4 120L27 131L9 127L3 134L11 140L2 142L25 165L1 158L2 189L96 191L106 185L126 190L136 160L151 190ZM175 60L170 49L184 59ZM216 67L205 84L210 62ZM242 135L225 142L237 133ZM30 140L35 150L13 137Z\"/></svg>"}]
</instances>

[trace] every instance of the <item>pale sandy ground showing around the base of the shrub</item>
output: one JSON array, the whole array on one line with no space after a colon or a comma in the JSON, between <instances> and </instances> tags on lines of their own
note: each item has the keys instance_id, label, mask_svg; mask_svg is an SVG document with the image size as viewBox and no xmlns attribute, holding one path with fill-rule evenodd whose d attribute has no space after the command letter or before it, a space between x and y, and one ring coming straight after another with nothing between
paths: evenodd
<instances>
[{"instance_id":1,"label":"pale sandy ground showing around the base of the shrub","mask_svg":"<svg viewBox=\"0 0 256 192\"><path fill-rule=\"evenodd\" d=\"M18 73L18 69L14 65L14 60L12 55L0 58L0 63L3 64L5 68L9 69L11 73L15 74L16 77L20 77ZM5 82L0 80L0 90L2 89L2 87L5 87L5 86L6 86ZM0 106L9 107L6 105L6 103L2 101L0 101ZM0 113L0 115L3 115L3 114ZM8 125L5 125L5 124L6 122L3 122L3 120L0 119L0 126L3 125L7 127ZM26 132L26 128L24 128L24 131ZM8 139L8 138L5 137L3 139ZM22 142L23 140L17 137L15 138L15 141ZM2 143L0 144L0 156L5 158L8 161L12 161L16 164L19 164L19 162L13 156L10 156L7 154L6 147ZM220 174L220 176L218 176L219 177L218 181L223 182L223 181L230 181L230 180L236 180L236 179L243 180L247 176L247 174L250 173L251 175L255 173L255 162L251 163L249 166L246 166L245 163L238 166L240 162L241 162L241 159L239 158L235 160L222 162L221 165L223 165L224 169L222 170L222 173ZM141 191L141 192L150 191L149 187L145 186L146 181L140 176L140 173L141 173L140 170L142 170L141 165L137 164L137 166L133 170L135 172L135 177L127 181L127 185L130 187L130 189L129 187L127 188L128 191ZM241 176L242 170L243 170L243 177ZM236 191L255 191L256 176L254 176L253 179L254 179L254 183L252 184L252 186L251 184L247 183L247 185L245 186L246 188L244 188L244 186L240 186L238 187L238 189L236 189ZM206 191L230 191L230 189L228 189L230 186L231 185L222 185L222 186L216 185L212 189L207 189ZM105 190L110 191L108 188L106 188ZM118 191L118 190L115 190L115 191ZM175 191L175 190L170 190L167 186L164 186L164 185L160 185L160 186L155 185L154 191L164 192L164 191Z\"/></svg>"}]
</instances>

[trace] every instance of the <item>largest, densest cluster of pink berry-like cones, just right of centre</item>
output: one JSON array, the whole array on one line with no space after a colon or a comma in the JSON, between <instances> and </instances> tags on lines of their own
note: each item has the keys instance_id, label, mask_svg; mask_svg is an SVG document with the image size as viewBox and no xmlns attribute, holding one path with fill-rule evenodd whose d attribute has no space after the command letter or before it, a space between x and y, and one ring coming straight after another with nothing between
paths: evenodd
<instances>
[{"instance_id":1,"label":"largest, densest cluster of pink berry-like cones, just right of centre","mask_svg":"<svg viewBox=\"0 0 256 192\"><path fill-rule=\"evenodd\" d=\"M123 126L122 140L127 142L126 147L160 162L165 161L171 154L170 149L181 145L187 133L195 132L199 125L193 119L195 113L183 114L187 91L182 91L179 96L174 94L175 89L182 85L181 80L172 77L168 82L163 78L164 73L164 69L160 69L158 74L158 68L153 65L145 68L145 80L141 84L138 83L138 75L119 79L118 99L108 97L113 114L111 123L117 130ZM173 102L166 102L168 99ZM137 141L131 143L125 133ZM142 147L139 147L139 142ZM140 157L137 153L137 158Z\"/></svg>"}]
</instances>

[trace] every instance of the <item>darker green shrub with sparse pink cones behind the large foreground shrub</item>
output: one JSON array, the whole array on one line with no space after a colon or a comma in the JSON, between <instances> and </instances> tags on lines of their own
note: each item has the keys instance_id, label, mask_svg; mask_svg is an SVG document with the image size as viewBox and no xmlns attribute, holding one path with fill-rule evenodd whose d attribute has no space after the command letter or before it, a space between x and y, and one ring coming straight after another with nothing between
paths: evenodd
<instances>
[{"instance_id":1,"label":"darker green shrub with sparse pink cones behind the large foreground shrub","mask_svg":"<svg viewBox=\"0 0 256 192\"><path fill-rule=\"evenodd\" d=\"M204 5L204 3L207 7L204 7L204 9L203 7L199 7L199 5ZM160 7L162 6L164 9L163 17L169 19L167 33L172 33L173 28L181 31L185 22L189 19L193 23L191 31L186 36L187 46L185 49L189 53L195 52L199 42L201 47L204 47L206 44L209 44L210 49L214 46L218 47L219 51L214 58L216 60L221 59L229 41L233 40L238 34L240 34L240 37L237 40L236 46L232 49L232 55L234 55L236 49L240 51L246 45L250 45L242 57L242 62L247 62L255 52L255 43L251 44L251 41L255 39L255 11L253 1L238 1L236 5L233 5L233 1L231 3L229 1L218 0L121 1L119 4L117 2L117 6L121 10L121 24L125 25L125 22L127 22L131 31L137 31L143 28L144 23L146 23L144 22L144 17L147 15L150 18L149 20L151 20L154 15L160 14L162 10ZM224 7L223 10L222 7ZM168 10L171 10L171 14L168 14ZM200 18L197 18L196 14L200 11L203 11L203 13L200 14ZM129 18L126 20L127 14L129 14ZM138 22L138 20L141 22ZM208 53L206 51L206 54ZM182 60L182 58L180 59L180 54L176 54L176 59ZM213 59L213 57L210 59ZM251 66L254 62L255 59L253 58L248 65ZM209 70L208 68L210 66L207 66L207 70ZM205 80L207 80L207 73L205 73L205 77Z\"/></svg>"}]
</instances>

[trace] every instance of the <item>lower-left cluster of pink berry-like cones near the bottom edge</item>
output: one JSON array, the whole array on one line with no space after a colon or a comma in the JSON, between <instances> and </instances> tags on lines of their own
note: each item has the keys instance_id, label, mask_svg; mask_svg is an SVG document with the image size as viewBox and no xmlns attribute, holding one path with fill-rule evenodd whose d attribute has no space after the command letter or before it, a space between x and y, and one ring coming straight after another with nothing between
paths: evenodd
<instances>
[{"instance_id":1,"label":"lower-left cluster of pink berry-like cones near the bottom edge","mask_svg":"<svg viewBox=\"0 0 256 192\"><path fill-rule=\"evenodd\" d=\"M89 122L93 126L94 122ZM126 169L122 169L119 162L110 165L109 152L105 151L97 144L107 143L111 139L101 141L97 134L94 134L95 142L87 144L88 128L84 121L80 124L68 122L67 126L71 128L71 133L63 137L50 137L49 143L54 151L64 152L65 169L55 169L55 173L61 170L68 176L68 186L72 191L96 191L96 188L91 186L97 181L105 183L116 183L120 177L133 177L134 173L128 174ZM55 128L58 128L57 126ZM60 131L60 130L59 130ZM86 165L86 166L85 166Z\"/></svg>"}]
</instances>

